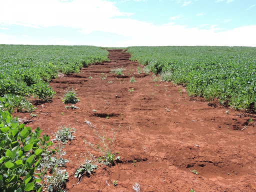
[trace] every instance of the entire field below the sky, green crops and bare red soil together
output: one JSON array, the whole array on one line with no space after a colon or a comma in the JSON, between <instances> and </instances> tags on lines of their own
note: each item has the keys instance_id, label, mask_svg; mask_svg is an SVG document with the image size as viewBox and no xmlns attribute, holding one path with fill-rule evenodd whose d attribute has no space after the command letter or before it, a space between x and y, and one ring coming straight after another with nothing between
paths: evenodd
<instances>
[{"instance_id":1,"label":"entire field below the sky, green crops and bare red soil together","mask_svg":"<svg viewBox=\"0 0 256 192\"><path fill-rule=\"evenodd\" d=\"M256 191L256 48L0 45L0 191Z\"/></svg>"}]
</instances>

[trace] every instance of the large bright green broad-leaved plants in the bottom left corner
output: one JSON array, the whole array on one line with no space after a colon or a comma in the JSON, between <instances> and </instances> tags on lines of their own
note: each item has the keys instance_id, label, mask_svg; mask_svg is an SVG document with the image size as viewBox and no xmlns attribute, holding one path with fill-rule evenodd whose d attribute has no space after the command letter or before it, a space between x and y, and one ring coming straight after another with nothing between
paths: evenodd
<instances>
[{"instance_id":1,"label":"large bright green broad-leaved plants in the bottom left corner","mask_svg":"<svg viewBox=\"0 0 256 192\"><path fill-rule=\"evenodd\" d=\"M49 136L41 138L41 131L19 124L8 111L0 112L0 191L42 190L36 168L52 142Z\"/></svg>"}]
</instances>

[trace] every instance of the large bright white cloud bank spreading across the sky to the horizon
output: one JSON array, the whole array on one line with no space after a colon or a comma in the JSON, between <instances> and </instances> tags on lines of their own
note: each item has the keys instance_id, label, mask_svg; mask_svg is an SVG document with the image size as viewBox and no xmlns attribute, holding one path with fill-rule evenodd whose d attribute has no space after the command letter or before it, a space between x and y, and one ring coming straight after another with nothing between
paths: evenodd
<instances>
[{"instance_id":1,"label":"large bright white cloud bank spreading across the sky to the horizon","mask_svg":"<svg viewBox=\"0 0 256 192\"><path fill-rule=\"evenodd\" d=\"M226 0L225 0L226 1ZM184 1L180 1L184 3ZM226 1L227 2L227 1ZM30 4L30 6L28 6ZM113 2L105 0L6 0L0 6L0 26L18 24L29 27L62 26L79 30L85 36L95 31L100 34L123 36L119 41L94 41L98 46L134 45L239 45L256 46L256 25L240 26L223 31L217 25L187 27L174 22L155 25L129 18L131 13L119 11ZM116 17L118 16L118 17ZM180 19L176 15L173 19ZM172 19L172 17L170 17ZM106 37L107 38L107 37ZM52 37L48 41L32 41L29 36L0 33L0 43L6 44L80 44L71 38ZM96 39L96 38L95 38ZM102 39L102 38L101 38Z\"/></svg>"}]
</instances>

